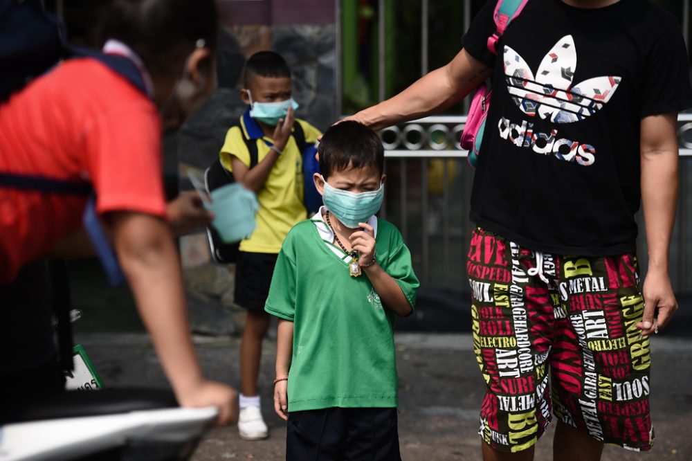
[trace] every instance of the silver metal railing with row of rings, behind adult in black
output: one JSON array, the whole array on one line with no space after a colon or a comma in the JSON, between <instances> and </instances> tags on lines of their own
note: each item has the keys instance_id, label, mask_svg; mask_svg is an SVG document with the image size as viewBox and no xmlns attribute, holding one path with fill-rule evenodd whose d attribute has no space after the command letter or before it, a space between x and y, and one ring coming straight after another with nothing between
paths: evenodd
<instances>
[{"instance_id":1,"label":"silver metal railing with row of rings, behind adult in black","mask_svg":"<svg viewBox=\"0 0 692 461\"><path fill-rule=\"evenodd\" d=\"M466 289L465 259L473 224L468 204L473 168L459 147L466 116L435 116L381 132L388 188L381 214L401 228L415 269L428 287ZM692 114L678 118L680 201L671 244L671 277L679 292L692 291ZM646 270L641 212L637 253Z\"/></svg>"}]
</instances>

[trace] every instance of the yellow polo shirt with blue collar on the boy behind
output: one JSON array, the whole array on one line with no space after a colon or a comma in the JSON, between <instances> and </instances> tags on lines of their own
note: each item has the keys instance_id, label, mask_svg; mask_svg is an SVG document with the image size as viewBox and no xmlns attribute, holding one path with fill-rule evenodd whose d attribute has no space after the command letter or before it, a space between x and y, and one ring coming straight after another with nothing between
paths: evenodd
<instances>
[{"instance_id":1,"label":"yellow polo shirt with blue collar on the boy behind","mask_svg":"<svg viewBox=\"0 0 692 461\"><path fill-rule=\"evenodd\" d=\"M320 136L318 129L298 118L295 123L300 123L306 143L317 141ZM228 171L233 171L231 156L237 157L250 168L250 152L244 136L257 143L257 163L269 153L269 145L265 141L272 143L271 138L264 136L257 122L246 111L240 118L240 126L231 127L226 133L224 147L219 152L221 164ZM303 205L302 152L293 136L274 163L264 186L257 191L257 200L260 201L257 227L248 239L240 242L240 251L279 253L289 230L307 219L307 211Z\"/></svg>"}]
</instances>

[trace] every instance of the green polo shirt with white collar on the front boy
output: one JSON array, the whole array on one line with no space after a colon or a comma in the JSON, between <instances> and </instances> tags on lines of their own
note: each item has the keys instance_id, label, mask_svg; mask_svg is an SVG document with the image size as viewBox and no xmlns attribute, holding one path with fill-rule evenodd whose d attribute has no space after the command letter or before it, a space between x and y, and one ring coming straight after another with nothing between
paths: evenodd
<instances>
[{"instance_id":1,"label":"green polo shirt with white collar on the front boy","mask_svg":"<svg viewBox=\"0 0 692 461\"><path fill-rule=\"evenodd\" d=\"M401 233L383 219L376 227L377 262L415 305L419 287ZM318 213L286 236L265 310L293 322L289 411L396 407L394 314L367 275L349 275L345 253L331 243Z\"/></svg>"}]
</instances>

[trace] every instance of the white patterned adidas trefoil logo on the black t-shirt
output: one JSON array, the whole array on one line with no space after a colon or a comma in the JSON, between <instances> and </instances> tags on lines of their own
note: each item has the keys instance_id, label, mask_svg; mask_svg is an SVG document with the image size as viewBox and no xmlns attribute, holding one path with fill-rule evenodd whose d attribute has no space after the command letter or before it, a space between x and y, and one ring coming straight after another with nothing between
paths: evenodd
<instances>
[{"instance_id":1,"label":"white patterned adidas trefoil logo on the black t-shirt","mask_svg":"<svg viewBox=\"0 0 692 461\"><path fill-rule=\"evenodd\" d=\"M565 35L543 57L534 73L519 53L504 47L507 89L525 114L553 123L573 123L595 114L612 98L620 77L603 76L572 85L576 48L572 35Z\"/></svg>"}]
</instances>

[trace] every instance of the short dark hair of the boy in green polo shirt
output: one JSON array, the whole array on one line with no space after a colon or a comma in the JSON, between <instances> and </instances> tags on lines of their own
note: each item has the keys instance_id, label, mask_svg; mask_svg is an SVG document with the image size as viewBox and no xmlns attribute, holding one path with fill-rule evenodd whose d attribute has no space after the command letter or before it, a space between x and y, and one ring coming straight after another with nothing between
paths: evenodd
<instances>
[{"instance_id":1,"label":"short dark hair of the boy in green polo shirt","mask_svg":"<svg viewBox=\"0 0 692 461\"><path fill-rule=\"evenodd\" d=\"M374 167L380 174L384 172L385 151L379 136L352 120L329 127L322 135L318 152L320 172L325 179L347 168Z\"/></svg>"}]
</instances>

